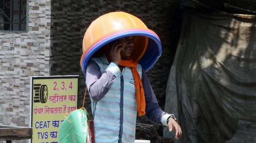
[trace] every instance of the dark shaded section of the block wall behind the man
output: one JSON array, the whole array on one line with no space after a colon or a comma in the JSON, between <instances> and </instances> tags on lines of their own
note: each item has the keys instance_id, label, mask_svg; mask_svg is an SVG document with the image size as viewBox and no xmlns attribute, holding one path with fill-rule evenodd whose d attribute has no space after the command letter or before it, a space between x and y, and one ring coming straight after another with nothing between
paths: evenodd
<instances>
[{"instance_id":1,"label":"dark shaded section of the block wall behind the man","mask_svg":"<svg viewBox=\"0 0 256 143\"><path fill-rule=\"evenodd\" d=\"M147 74L163 108L165 87L179 37L179 0L52 0L50 75L80 75L78 106L85 91L80 70L82 39L96 18L109 12L124 11L139 17L161 39L163 54ZM90 100L85 102L91 112ZM140 120L138 120L140 122Z\"/></svg>"}]
</instances>

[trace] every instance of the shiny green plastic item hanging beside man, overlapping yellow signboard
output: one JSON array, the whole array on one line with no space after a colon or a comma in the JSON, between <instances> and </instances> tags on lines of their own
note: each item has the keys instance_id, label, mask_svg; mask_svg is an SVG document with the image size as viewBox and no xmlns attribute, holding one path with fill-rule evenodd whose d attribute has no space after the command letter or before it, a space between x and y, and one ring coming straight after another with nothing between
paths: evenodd
<instances>
[{"instance_id":1,"label":"shiny green plastic item hanging beside man, overlapping yellow signboard","mask_svg":"<svg viewBox=\"0 0 256 143\"><path fill-rule=\"evenodd\" d=\"M84 108L72 111L59 129L59 143L87 143L87 112Z\"/></svg>"}]
</instances>

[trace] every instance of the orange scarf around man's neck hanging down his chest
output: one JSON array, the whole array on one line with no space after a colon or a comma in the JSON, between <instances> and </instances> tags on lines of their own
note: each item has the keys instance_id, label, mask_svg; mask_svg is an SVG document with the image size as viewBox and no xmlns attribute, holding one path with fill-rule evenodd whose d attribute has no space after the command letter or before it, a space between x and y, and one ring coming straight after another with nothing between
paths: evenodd
<instances>
[{"instance_id":1,"label":"orange scarf around man's neck hanging down his chest","mask_svg":"<svg viewBox=\"0 0 256 143\"><path fill-rule=\"evenodd\" d=\"M119 65L130 67L132 69L132 75L135 81L135 93L137 98L138 114L139 116L145 115L146 101L145 101L145 95L144 95L144 88L141 82L141 78L139 76L139 72L136 69L138 62L133 61L132 59L121 60Z\"/></svg>"}]
</instances>

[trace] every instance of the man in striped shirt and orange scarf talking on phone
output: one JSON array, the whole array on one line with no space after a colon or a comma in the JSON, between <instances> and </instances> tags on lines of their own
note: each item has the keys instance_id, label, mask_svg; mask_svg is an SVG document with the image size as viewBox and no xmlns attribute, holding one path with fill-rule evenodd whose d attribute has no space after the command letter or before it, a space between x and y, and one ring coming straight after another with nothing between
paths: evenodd
<instances>
[{"instance_id":1,"label":"man in striped shirt and orange scarf talking on phone","mask_svg":"<svg viewBox=\"0 0 256 143\"><path fill-rule=\"evenodd\" d=\"M109 44L100 58L93 58L86 70L86 85L91 97L96 143L133 143L137 110L176 130L182 135L174 115L158 106L148 77L141 65L129 59L135 36L120 38Z\"/></svg>"}]
</instances>

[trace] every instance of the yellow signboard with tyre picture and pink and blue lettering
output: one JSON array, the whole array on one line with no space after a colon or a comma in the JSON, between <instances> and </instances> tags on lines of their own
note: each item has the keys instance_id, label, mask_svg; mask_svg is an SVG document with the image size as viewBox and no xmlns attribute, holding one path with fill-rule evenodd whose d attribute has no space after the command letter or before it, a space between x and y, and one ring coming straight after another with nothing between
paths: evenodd
<instances>
[{"instance_id":1,"label":"yellow signboard with tyre picture and pink and blue lettering","mask_svg":"<svg viewBox=\"0 0 256 143\"><path fill-rule=\"evenodd\" d=\"M64 114L77 109L78 76L33 76L30 90L31 142L58 143Z\"/></svg>"}]
</instances>

